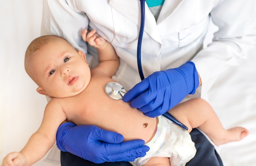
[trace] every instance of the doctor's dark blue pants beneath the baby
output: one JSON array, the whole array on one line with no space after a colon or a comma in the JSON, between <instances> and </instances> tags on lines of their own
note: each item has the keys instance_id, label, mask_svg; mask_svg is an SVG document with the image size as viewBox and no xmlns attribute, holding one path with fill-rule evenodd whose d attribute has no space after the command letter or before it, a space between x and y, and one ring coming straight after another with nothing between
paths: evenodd
<instances>
[{"instance_id":1,"label":"doctor's dark blue pants beneath the baby","mask_svg":"<svg viewBox=\"0 0 256 166\"><path fill-rule=\"evenodd\" d=\"M195 142L197 152L186 166L223 166L220 156L213 145L198 129L193 129L190 135L193 142ZM61 166L131 166L131 164L128 162L94 164L71 153L61 152Z\"/></svg>"}]
</instances>

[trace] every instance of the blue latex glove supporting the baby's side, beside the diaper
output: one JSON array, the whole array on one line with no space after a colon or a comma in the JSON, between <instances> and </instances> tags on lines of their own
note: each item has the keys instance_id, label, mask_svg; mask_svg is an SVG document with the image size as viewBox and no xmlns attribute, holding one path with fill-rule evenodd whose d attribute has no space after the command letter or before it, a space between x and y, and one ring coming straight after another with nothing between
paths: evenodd
<instances>
[{"instance_id":1,"label":"blue latex glove supporting the baby's side, beside the diaper","mask_svg":"<svg viewBox=\"0 0 256 166\"><path fill-rule=\"evenodd\" d=\"M94 163L130 162L143 157L149 150L143 140L125 141L121 134L97 126L63 123L57 130L56 141L60 150Z\"/></svg>"}]
</instances>

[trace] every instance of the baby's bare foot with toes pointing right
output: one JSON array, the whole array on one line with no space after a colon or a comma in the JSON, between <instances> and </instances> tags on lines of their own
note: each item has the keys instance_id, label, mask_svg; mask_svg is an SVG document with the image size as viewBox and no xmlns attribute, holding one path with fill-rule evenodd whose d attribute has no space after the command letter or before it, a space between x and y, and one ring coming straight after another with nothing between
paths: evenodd
<instances>
[{"instance_id":1,"label":"baby's bare foot with toes pointing right","mask_svg":"<svg viewBox=\"0 0 256 166\"><path fill-rule=\"evenodd\" d=\"M222 139L214 140L214 144L222 145L227 144L229 142L241 141L249 134L249 131L243 127L234 127L227 130L226 134ZM220 137L221 138L221 137Z\"/></svg>"}]
</instances>

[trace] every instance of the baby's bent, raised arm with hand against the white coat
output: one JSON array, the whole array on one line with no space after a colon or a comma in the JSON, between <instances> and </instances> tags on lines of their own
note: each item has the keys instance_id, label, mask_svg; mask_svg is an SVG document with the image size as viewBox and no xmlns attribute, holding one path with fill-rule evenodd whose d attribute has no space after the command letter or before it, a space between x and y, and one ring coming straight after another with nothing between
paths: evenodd
<instances>
[{"instance_id":1,"label":"baby's bent, raised arm with hand against the white coat","mask_svg":"<svg viewBox=\"0 0 256 166\"><path fill-rule=\"evenodd\" d=\"M112 45L99 36L95 30L88 34L86 29L83 30L82 38L98 50L99 65L91 70L92 74L101 72L108 77L112 77L119 67L119 57Z\"/></svg>"}]
</instances>

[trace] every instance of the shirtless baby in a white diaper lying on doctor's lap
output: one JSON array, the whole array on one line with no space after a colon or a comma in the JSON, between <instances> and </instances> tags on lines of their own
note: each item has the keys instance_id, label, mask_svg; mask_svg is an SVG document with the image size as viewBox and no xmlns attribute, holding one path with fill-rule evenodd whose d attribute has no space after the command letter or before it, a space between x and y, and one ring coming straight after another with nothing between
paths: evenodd
<instances>
[{"instance_id":1,"label":"shirtless baby in a white diaper lying on doctor's lap","mask_svg":"<svg viewBox=\"0 0 256 166\"><path fill-rule=\"evenodd\" d=\"M46 105L40 128L18 153L9 153L3 166L27 166L41 159L56 141L56 131L66 119L76 125L95 125L118 132L124 140L142 139L150 147L133 165L185 165L195 155L189 132L199 128L216 145L239 141L249 132L242 127L225 130L211 106L191 99L168 112L189 129L176 126L165 117L150 118L129 103L111 99L105 85L119 67L110 43L95 30L82 32L83 40L97 48L99 65L90 70L85 54L58 36L33 40L25 54L25 70L38 85L37 92L52 98ZM121 109L120 109L121 108Z\"/></svg>"}]
</instances>

